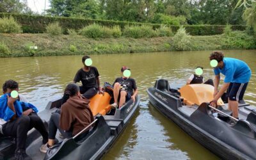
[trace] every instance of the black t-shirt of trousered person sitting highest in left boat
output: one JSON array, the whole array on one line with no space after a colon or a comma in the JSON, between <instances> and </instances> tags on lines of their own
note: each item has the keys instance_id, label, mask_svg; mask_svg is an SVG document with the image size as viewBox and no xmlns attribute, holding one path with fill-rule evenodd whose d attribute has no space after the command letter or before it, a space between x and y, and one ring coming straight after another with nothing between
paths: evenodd
<instances>
[{"instance_id":1,"label":"black t-shirt of trousered person sitting highest in left boat","mask_svg":"<svg viewBox=\"0 0 256 160\"><path fill-rule=\"evenodd\" d=\"M74 82L82 82L85 88L97 88L97 77L99 77L99 72L96 67L90 67L90 71L85 72L83 68L79 69L74 77Z\"/></svg>"}]
</instances>

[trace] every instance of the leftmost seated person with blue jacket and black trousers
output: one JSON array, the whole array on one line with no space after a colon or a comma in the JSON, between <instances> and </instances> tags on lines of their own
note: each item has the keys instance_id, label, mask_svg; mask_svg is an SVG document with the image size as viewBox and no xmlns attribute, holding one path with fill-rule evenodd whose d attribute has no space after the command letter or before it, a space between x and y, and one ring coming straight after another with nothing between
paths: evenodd
<instances>
[{"instance_id":1,"label":"leftmost seated person with blue jacket and black trousers","mask_svg":"<svg viewBox=\"0 0 256 160\"><path fill-rule=\"evenodd\" d=\"M30 129L35 127L42 134L43 144L47 143L48 132L41 118L36 115L37 109L22 95L17 98L10 96L12 91L19 91L16 81L8 80L3 84L0 98L0 132L4 136L12 136L16 141L15 158L29 158L26 155L26 139Z\"/></svg>"}]
</instances>

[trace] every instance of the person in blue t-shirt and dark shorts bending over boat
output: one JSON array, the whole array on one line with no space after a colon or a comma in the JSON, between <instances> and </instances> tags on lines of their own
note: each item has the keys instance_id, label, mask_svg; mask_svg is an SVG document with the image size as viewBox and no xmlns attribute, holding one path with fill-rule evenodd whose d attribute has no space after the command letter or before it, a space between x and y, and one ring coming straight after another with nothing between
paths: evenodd
<instances>
[{"instance_id":1,"label":"person in blue t-shirt and dark shorts bending over boat","mask_svg":"<svg viewBox=\"0 0 256 160\"><path fill-rule=\"evenodd\" d=\"M221 51L211 53L210 60L218 61L214 67L214 99L211 101L212 106L216 106L217 100L227 90L228 109L232 111L232 116L238 119L238 100L243 100L243 95L250 81L251 69L241 60L235 58L224 58ZM220 84L220 73L225 75L224 84L218 91Z\"/></svg>"}]
</instances>

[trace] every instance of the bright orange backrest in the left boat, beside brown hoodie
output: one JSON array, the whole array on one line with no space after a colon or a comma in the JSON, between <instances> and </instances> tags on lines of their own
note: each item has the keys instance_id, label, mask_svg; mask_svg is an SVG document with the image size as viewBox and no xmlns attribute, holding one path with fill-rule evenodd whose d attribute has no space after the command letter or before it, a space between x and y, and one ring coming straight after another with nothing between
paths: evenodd
<instances>
[{"instance_id":1,"label":"bright orange backrest in the left boat, beside brown hoodie","mask_svg":"<svg viewBox=\"0 0 256 160\"><path fill-rule=\"evenodd\" d=\"M106 115L111 109L109 101L111 97L109 93L105 92L104 95L97 93L90 99L90 109L92 110L93 116L100 113L101 115Z\"/></svg>"}]
</instances>

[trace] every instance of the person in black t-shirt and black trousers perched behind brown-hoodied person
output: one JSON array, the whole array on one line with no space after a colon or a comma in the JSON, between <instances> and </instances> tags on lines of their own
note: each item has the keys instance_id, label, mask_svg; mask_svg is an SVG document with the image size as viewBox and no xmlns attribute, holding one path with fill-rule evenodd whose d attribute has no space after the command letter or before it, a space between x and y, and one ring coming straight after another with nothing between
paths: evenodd
<instances>
[{"instance_id":1,"label":"person in black t-shirt and black trousers perched behind brown-hoodied person","mask_svg":"<svg viewBox=\"0 0 256 160\"><path fill-rule=\"evenodd\" d=\"M83 68L80 68L76 76L74 77L74 83L82 82L82 86L79 86L80 93L86 99L92 98L98 92L102 92L102 88L100 86L99 72L96 67L90 66L91 64L86 64L86 60L90 59L90 56L83 56ZM67 97L63 96L63 103L67 101Z\"/></svg>"}]
</instances>

